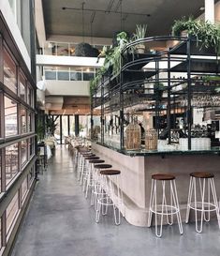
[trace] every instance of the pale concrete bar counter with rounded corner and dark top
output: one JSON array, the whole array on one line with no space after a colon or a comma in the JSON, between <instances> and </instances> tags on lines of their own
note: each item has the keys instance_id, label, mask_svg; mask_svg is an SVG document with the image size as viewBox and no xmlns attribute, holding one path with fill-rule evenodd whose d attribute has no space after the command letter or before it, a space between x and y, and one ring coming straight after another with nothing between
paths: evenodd
<instances>
[{"instance_id":1,"label":"pale concrete bar counter with rounded corner and dark top","mask_svg":"<svg viewBox=\"0 0 220 256\"><path fill-rule=\"evenodd\" d=\"M220 153L211 151L184 152L129 152L114 150L105 145L92 143L93 151L122 172L125 218L136 226L147 226L151 176L154 173L173 173L176 176L177 193L182 220L189 187L189 173L214 173L216 193L220 195ZM193 217L193 216L192 216Z\"/></svg>"}]
</instances>

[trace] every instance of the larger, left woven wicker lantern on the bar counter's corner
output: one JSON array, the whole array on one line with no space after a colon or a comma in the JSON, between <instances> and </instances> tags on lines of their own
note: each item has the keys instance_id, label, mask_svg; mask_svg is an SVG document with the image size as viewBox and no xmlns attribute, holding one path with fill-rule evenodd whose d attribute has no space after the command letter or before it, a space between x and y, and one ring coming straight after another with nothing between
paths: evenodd
<instances>
[{"instance_id":1,"label":"larger, left woven wicker lantern on the bar counter's corner","mask_svg":"<svg viewBox=\"0 0 220 256\"><path fill-rule=\"evenodd\" d=\"M141 147L141 131L137 123L129 124L125 130L125 148L139 150Z\"/></svg>"}]
</instances>

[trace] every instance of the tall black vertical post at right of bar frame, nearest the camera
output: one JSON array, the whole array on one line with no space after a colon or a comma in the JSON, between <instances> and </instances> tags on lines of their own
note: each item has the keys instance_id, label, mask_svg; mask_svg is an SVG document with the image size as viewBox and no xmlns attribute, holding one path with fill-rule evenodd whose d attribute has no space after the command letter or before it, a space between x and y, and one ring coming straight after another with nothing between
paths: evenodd
<instances>
[{"instance_id":1,"label":"tall black vertical post at right of bar frame, nearest the camera","mask_svg":"<svg viewBox=\"0 0 220 256\"><path fill-rule=\"evenodd\" d=\"M188 150L191 150L191 124L192 124L192 106L191 106L191 38L187 39L187 126L188 126Z\"/></svg>"}]
</instances>

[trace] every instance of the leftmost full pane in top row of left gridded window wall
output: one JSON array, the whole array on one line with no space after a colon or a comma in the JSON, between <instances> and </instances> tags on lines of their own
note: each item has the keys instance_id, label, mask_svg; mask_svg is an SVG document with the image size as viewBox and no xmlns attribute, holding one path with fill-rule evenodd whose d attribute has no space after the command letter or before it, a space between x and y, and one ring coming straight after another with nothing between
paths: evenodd
<instances>
[{"instance_id":1,"label":"leftmost full pane in top row of left gridded window wall","mask_svg":"<svg viewBox=\"0 0 220 256\"><path fill-rule=\"evenodd\" d=\"M17 94L17 72L15 62L4 49L4 84L15 94Z\"/></svg>"}]
</instances>

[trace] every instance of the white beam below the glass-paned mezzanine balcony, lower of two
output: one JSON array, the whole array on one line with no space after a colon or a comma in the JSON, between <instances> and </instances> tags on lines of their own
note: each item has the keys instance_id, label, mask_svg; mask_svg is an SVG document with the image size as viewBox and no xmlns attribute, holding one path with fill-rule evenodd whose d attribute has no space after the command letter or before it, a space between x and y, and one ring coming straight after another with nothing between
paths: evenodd
<instances>
[{"instance_id":1,"label":"white beam below the glass-paned mezzanine balcony, lower of two","mask_svg":"<svg viewBox=\"0 0 220 256\"><path fill-rule=\"evenodd\" d=\"M90 96L88 81L52 81L46 82L46 96Z\"/></svg>"}]
</instances>

